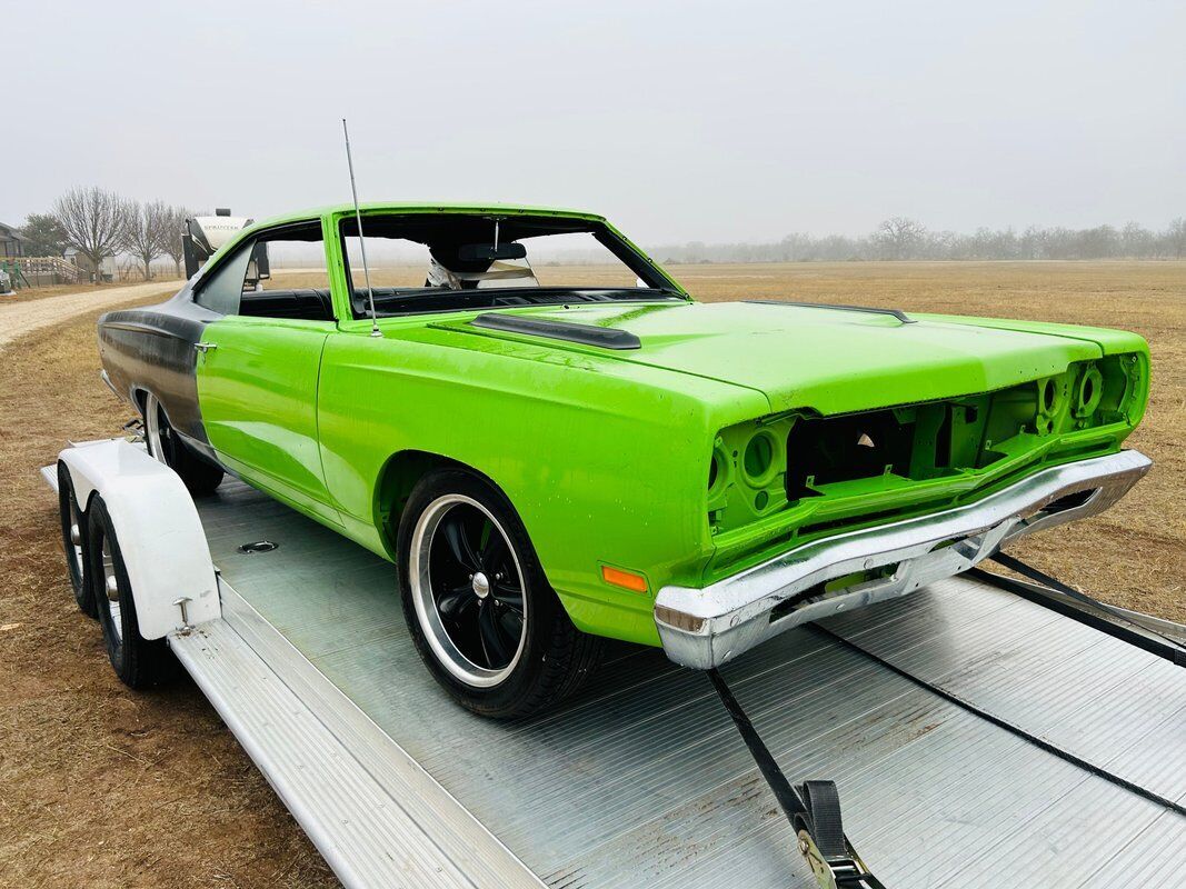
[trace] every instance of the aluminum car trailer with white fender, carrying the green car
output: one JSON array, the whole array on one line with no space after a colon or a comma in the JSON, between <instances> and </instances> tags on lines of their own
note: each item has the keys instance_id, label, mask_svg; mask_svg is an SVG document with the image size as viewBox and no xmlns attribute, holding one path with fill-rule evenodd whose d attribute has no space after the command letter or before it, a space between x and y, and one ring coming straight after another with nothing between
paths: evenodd
<instances>
[{"instance_id":1,"label":"aluminum car trailer with white fender, carrying the green car","mask_svg":"<svg viewBox=\"0 0 1186 889\"><path fill-rule=\"evenodd\" d=\"M62 461L79 510L104 498L141 626L168 625L347 887L1186 874L1186 627L978 573L797 627L710 677L621 646L561 709L492 722L422 669L372 554L237 481L191 500L126 441ZM875 880L812 874L802 846L835 845L839 824L797 836L784 816L803 789L784 775L836 782Z\"/></svg>"}]
</instances>

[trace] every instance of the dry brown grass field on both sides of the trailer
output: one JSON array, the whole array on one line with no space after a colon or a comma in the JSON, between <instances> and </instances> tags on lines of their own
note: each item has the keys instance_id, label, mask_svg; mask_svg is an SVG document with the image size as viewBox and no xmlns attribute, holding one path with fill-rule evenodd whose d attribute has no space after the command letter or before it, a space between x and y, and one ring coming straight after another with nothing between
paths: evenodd
<instances>
[{"instance_id":1,"label":"dry brown grass field on both sides of the trailer","mask_svg":"<svg viewBox=\"0 0 1186 889\"><path fill-rule=\"evenodd\" d=\"M1110 513L1027 543L1038 565L1186 621L1186 263L696 266L706 300L784 298L1078 321L1142 333L1158 461ZM97 313L9 344L0 372L0 885L321 887L333 878L191 685L121 686L74 606L37 475L128 418L98 382Z\"/></svg>"}]
</instances>

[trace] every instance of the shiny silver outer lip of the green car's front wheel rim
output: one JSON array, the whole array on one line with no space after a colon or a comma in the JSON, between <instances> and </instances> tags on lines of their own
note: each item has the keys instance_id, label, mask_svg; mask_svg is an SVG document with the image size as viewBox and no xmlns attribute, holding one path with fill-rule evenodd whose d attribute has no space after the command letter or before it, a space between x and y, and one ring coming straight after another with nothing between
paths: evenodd
<instances>
[{"instance_id":1,"label":"shiny silver outer lip of the green car's front wheel rim","mask_svg":"<svg viewBox=\"0 0 1186 889\"><path fill-rule=\"evenodd\" d=\"M433 596L432 574L429 568L429 556L432 555L433 543L441 522L451 510L460 505L472 506L482 512L486 519L490 520L493 530L503 536L506 551L510 555L510 559L515 565L515 571L519 578L519 588L523 590L523 631L519 633L518 646L516 647L514 655L511 655L510 661L506 666L499 670L491 670L474 664L461 652L449 637L448 631L445 628L440 610L436 607L436 600ZM515 667L518 666L518 663L523 657L523 648L527 646L527 583L523 577L523 568L519 565L518 554L515 552L515 548L511 545L506 530L502 526L498 519L491 514L490 510L465 494L445 494L442 497L438 497L428 504L425 511L420 514L420 518L416 520L416 526L412 532L412 546L408 557L408 578L412 586L412 601L415 607L416 620L420 622L420 628L428 642L428 647L432 650L436 663L444 666L451 676L466 685L478 689L489 689L502 683L515 671ZM483 580L485 580L484 576ZM477 594L477 587L474 588L474 593Z\"/></svg>"}]
</instances>

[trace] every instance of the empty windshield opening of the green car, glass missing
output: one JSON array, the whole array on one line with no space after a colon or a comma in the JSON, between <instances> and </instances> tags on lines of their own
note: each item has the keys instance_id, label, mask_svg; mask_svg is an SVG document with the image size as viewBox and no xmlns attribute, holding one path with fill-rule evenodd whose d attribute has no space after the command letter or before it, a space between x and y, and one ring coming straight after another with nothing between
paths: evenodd
<instances>
[{"instance_id":1,"label":"empty windshield opening of the green car, glass missing","mask_svg":"<svg viewBox=\"0 0 1186 889\"><path fill-rule=\"evenodd\" d=\"M340 224L355 318L606 300L680 299L604 224L518 213L393 213Z\"/></svg>"}]
</instances>

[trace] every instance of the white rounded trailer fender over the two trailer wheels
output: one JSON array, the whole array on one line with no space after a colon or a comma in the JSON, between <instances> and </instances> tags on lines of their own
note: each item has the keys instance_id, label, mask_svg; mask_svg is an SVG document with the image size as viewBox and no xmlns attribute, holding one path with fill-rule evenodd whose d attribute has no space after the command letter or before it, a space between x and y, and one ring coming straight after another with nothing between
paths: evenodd
<instances>
[{"instance_id":1,"label":"white rounded trailer fender over the two trailer wheels","mask_svg":"<svg viewBox=\"0 0 1186 889\"><path fill-rule=\"evenodd\" d=\"M96 492L107 504L145 639L185 625L180 599L190 625L222 616L206 535L177 473L120 439L66 448L58 459L81 506Z\"/></svg>"}]
</instances>

